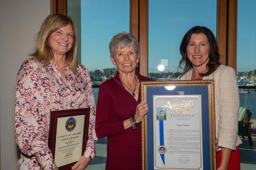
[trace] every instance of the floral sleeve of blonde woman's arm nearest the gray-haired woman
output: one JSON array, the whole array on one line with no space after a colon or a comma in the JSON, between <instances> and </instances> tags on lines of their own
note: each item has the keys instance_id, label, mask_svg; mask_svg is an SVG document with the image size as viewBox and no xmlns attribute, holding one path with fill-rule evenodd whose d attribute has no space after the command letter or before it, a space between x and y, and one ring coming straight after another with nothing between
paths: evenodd
<instances>
[{"instance_id":1,"label":"floral sleeve of blonde woman's arm nearest the gray-haired woman","mask_svg":"<svg viewBox=\"0 0 256 170\"><path fill-rule=\"evenodd\" d=\"M88 141L86 144L86 149L84 152L85 157L90 159L95 158L95 142L98 140L95 133L95 101L93 96L93 89L91 86L91 79L89 72L85 69L85 82L88 86L88 95L87 95L87 107L90 108L90 120L89 120L89 132L88 132Z\"/></svg>"}]
</instances>

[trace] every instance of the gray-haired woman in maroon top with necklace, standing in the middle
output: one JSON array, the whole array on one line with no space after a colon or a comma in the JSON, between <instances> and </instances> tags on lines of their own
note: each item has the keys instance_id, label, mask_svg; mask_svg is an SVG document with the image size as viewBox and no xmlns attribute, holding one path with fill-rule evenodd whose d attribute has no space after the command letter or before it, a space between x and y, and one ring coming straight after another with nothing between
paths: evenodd
<instances>
[{"instance_id":1,"label":"gray-haired woman in maroon top with necklace, standing in the middle","mask_svg":"<svg viewBox=\"0 0 256 170\"><path fill-rule=\"evenodd\" d=\"M152 79L136 71L139 42L126 32L109 43L110 60L118 72L100 85L96 136L108 137L106 170L141 170L141 121L148 106L141 101L140 82Z\"/></svg>"}]
</instances>

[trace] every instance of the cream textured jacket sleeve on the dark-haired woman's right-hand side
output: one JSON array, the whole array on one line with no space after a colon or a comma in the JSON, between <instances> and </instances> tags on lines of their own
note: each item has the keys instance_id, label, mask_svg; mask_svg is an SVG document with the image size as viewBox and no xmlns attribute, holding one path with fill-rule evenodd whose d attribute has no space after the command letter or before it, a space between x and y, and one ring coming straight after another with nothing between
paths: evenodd
<instances>
[{"instance_id":1,"label":"cream textured jacket sleeve on the dark-haired woman's right-hand side","mask_svg":"<svg viewBox=\"0 0 256 170\"><path fill-rule=\"evenodd\" d=\"M239 113L239 91L234 69L226 67L219 77L218 145L236 150Z\"/></svg>"}]
</instances>

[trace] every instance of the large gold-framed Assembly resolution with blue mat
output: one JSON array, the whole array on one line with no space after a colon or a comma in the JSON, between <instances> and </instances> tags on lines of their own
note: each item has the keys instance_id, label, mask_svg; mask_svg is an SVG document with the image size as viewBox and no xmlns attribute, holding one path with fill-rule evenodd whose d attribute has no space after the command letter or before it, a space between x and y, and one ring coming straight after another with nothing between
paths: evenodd
<instances>
[{"instance_id":1,"label":"large gold-framed Assembly resolution with blue mat","mask_svg":"<svg viewBox=\"0 0 256 170\"><path fill-rule=\"evenodd\" d=\"M143 170L216 170L213 80L141 82Z\"/></svg>"}]
</instances>

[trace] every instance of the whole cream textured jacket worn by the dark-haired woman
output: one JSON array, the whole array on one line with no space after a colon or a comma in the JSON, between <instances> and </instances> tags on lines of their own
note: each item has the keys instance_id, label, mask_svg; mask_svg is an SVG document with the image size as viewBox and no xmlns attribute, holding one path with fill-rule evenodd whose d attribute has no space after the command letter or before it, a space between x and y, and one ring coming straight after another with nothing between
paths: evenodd
<instances>
[{"instance_id":1,"label":"whole cream textured jacket worn by the dark-haired woman","mask_svg":"<svg viewBox=\"0 0 256 170\"><path fill-rule=\"evenodd\" d=\"M180 77L180 80L190 80L193 69ZM203 80L214 79L215 86L215 128L218 146L236 150L241 144L237 136L239 114L239 91L236 73L233 68L220 65L211 75Z\"/></svg>"}]
</instances>

